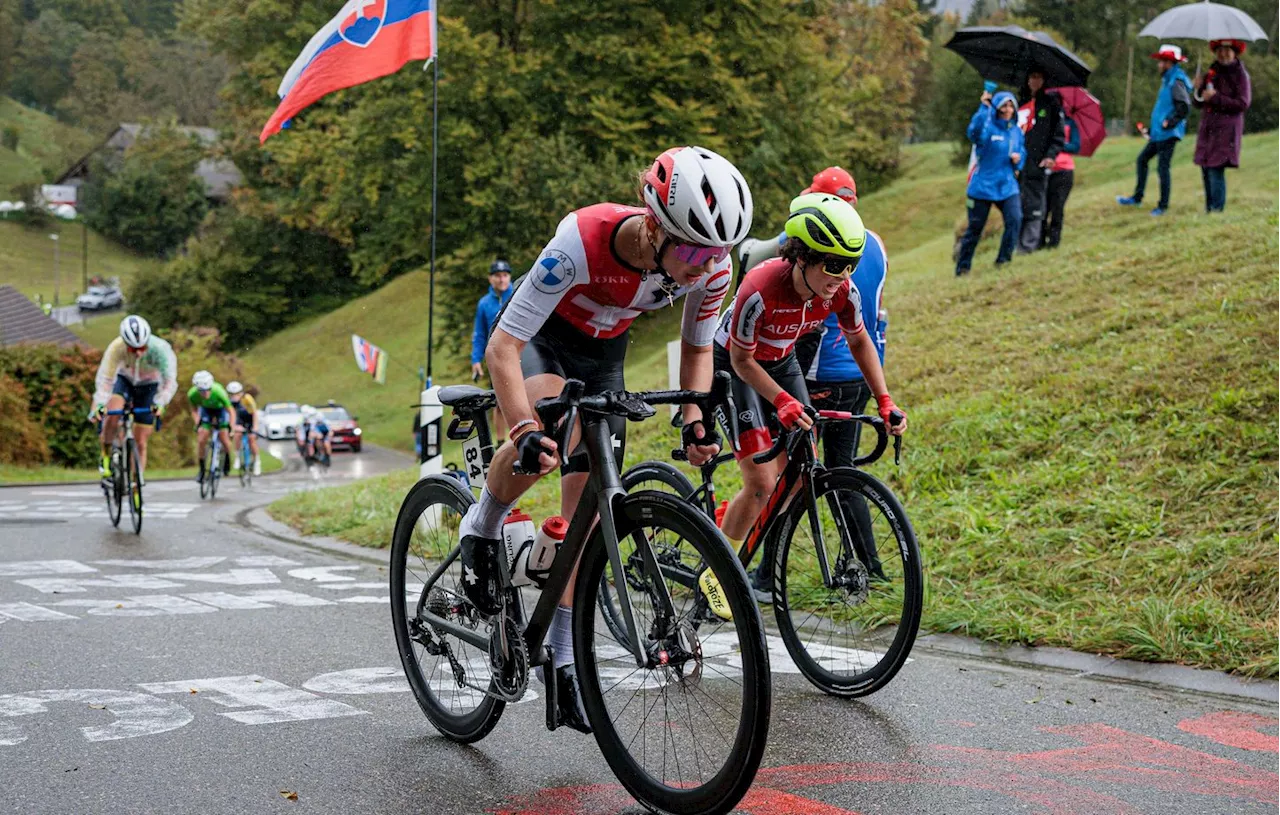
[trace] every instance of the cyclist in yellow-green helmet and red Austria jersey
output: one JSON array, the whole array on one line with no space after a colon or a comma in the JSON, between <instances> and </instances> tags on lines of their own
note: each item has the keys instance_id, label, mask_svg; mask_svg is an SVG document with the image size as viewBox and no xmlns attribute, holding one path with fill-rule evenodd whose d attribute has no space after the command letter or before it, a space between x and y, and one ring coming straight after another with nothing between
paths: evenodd
<instances>
[{"instance_id":1,"label":"cyclist in yellow-green helmet and red Austria jersey","mask_svg":"<svg viewBox=\"0 0 1280 815\"><path fill-rule=\"evenodd\" d=\"M742 491L730 502L721 525L731 542L750 530L786 467L785 454L764 464L751 459L772 445L771 422L786 429L813 426L805 415L809 394L795 343L828 315L836 315L881 416L888 421L891 411L901 412L888 395L858 292L850 283L867 243L858 212L832 194L803 194L791 202L786 232L790 238L782 257L746 274L716 338L716 367L730 371L733 379L739 432L733 441L742 471ZM891 432L904 430L905 418Z\"/></svg>"}]
</instances>

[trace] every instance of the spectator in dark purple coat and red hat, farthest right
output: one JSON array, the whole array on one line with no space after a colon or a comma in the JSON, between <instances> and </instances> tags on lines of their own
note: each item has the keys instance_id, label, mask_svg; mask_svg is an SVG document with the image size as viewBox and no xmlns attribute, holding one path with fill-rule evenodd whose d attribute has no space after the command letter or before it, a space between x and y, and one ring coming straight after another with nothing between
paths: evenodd
<instances>
[{"instance_id":1,"label":"spectator in dark purple coat and red hat, farthest right","mask_svg":"<svg viewBox=\"0 0 1280 815\"><path fill-rule=\"evenodd\" d=\"M1226 168L1240 166L1244 111L1253 99L1253 87L1239 59L1244 54L1244 41L1213 40L1208 45L1217 59L1207 74L1196 77L1192 99L1192 104L1203 110L1196 138L1196 164L1204 179L1204 211L1221 212L1226 207Z\"/></svg>"}]
</instances>

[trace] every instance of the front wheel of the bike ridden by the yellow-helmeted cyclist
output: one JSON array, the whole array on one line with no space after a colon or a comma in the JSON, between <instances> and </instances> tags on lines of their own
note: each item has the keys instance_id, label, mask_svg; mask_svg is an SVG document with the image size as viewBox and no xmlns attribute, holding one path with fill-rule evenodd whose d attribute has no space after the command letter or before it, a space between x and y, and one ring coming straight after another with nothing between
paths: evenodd
<instances>
[{"instance_id":1,"label":"front wheel of the bike ridden by the yellow-helmeted cyclist","mask_svg":"<svg viewBox=\"0 0 1280 815\"><path fill-rule=\"evenodd\" d=\"M810 526L806 518L809 505L806 500L796 500L787 510L777 537L780 545L776 549L773 560L774 619L777 621L778 633L782 636L787 653L800 669L800 673L809 682L832 696L844 699L867 696L888 684L906 663L906 658L911 653L911 646L915 644L924 604L924 569L920 562L920 549L915 540L911 522L902 509L902 504L883 482L852 467L823 470L814 473L813 477L814 495L819 512L823 505L827 505L832 513L838 508L845 513L845 528L850 528L850 523L855 526L859 523L852 518L854 510L850 509L858 499L867 502L868 518L870 518L872 508L879 513L882 521L870 518L872 528L869 530L869 535L873 539L873 545L876 545L876 551L870 557L874 558L873 562L877 563L877 568L882 571L886 580L872 580L870 569L865 564L868 555L852 549L854 546L863 549L864 544L845 540L846 537L851 539L851 535L841 536L838 532L833 532L835 537L840 539L841 546L836 551L835 560L828 554L828 563L831 563L832 572L840 571L838 558L842 554L846 558L845 564L847 567L842 573L854 576L850 578L850 582L858 582L861 578L856 576L867 572L867 594L858 600L856 592L851 592L847 589L819 587L822 583L820 572L814 572L813 568L805 569L805 566L817 567L815 544L809 532ZM832 514L832 525L823 522L823 526L833 526L835 514ZM803 531L804 537L806 537L804 545L814 548L812 558L809 558L808 551L801 554L800 545L797 545L797 531ZM852 534L858 535L859 541L865 540L858 530L854 530ZM891 539L892 546L879 546L878 544L882 539ZM831 549L832 541L829 536L823 535L823 540L826 541L826 548ZM896 559L891 559L890 553L896 554ZM795 559L795 567L788 568L792 566L792 558ZM809 563L806 563L805 558L809 558ZM858 566L854 566L852 559L858 559L863 568L859 569ZM823 600L818 604L819 608L815 612L812 608L815 604L813 597L817 597L823 591L828 592L829 597L842 601L845 604L844 608ZM900 603L897 601L899 591L901 591ZM856 601L852 604L849 603L847 599L850 596ZM895 617L893 609L899 606L897 619L891 619ZM836 613L823 619L818 612L828 608L835 608ZM851 621L860 618L863 623L869 626L873 636L865 641L860 641L856 646L851 642L845 646L835 644L832 628L840 623L832 623L831 618L841 615ZM806 645L804 633L809 619L814 619L815 631L820 629L823 632L820 642L817 636L809 642L809 645L814 646L813 650ZM883 635L888 633L886 626L892 628L892 638L888 640L883 654L877 655L877 651L869 646L884 641ZM844 651L842 655L841 650ZM868 654L876 658L874 661L868 658ZM823 664L824 661L835 664L841 656L845 659L846 665L850 665L856 659L858 669L837 672L828 669Z\"/></svg>"}]
</instances>

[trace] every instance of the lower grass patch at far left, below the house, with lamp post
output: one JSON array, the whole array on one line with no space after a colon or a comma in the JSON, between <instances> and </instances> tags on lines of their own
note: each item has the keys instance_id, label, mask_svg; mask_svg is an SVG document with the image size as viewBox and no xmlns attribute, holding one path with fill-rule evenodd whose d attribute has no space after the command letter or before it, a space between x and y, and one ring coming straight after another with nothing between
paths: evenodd
<instances>
[{"instance_id":1,"label":"lower grass patch at far left, below the house, with lamp post","mask_svg":"<svg viewBox=\"0 0 1280 815\"><path fill-rule=\"evenodd\" d=\"M54 219L44 228L27 228L15 221L0 221L0 283L15 287L27 297L37 294L54 298L54 242L59 234L58 292L59 303L69 306L84 290L82 278L83 234L78 223ZM138 271L161 261L142 257L111 241L88 232L88 276L120 278L127 284Z\"/></svg>"}]
</instances>

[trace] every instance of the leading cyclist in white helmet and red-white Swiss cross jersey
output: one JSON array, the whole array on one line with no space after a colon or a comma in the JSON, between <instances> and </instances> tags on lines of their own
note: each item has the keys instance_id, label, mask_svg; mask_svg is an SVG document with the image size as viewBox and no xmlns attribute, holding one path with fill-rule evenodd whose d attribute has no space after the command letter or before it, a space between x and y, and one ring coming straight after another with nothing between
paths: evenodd
<instances>
[{"instance_id":1,"label":"leading cyclist in white helmet and red-white Swiss cross jersey","mask_svg":"<svg viewBox=\"0 0 1280 815\"><path fill-rule=\"evenodd\" d=\"M572 517L586 481L586 455L577 449L581 429L573 450L557 449L538 423L534 402L558 395L566 379L582 380L588 394L621 389L627 328L640 313L681 298L680 386L710 388L716 317L731 276L728 252L751 228L751 193L724 157L677 147L644 174L640 200L644 206L598 203L570 212L498 316L485 360L511 443L494 455L480 500L458 531L462 586L485 614L499 609L499 537L516 500L561 466L561 505ZM713 426L696 407L682 411L689 457L705 462L719 449ZM611 430L621 458L626 423L611 421ZM517 461L538 475L513 475ZM549 644L561 718L589 732L573 674L572 592L571 583Z\"/></svg>"}]
</instances>

